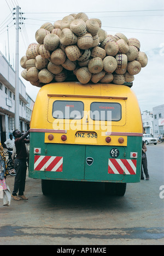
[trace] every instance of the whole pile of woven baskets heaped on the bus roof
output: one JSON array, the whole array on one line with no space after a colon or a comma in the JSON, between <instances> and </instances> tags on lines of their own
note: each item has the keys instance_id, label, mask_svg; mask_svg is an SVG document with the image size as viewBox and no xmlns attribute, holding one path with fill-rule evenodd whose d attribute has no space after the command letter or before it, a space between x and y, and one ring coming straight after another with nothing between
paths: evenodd
<instances>
[{"instance_id":1,"label":"whole pile of woven baskets heaped on the bus roof","mask_svg":"<svg viewBox=\"0 0 164 256\"><path fill-rule=\"evenodd\" d=\"M37 43L28 46L20 65L21 76L33 86L51 82L82 84L132 82L148 63L137 38L107 35L99 19L85 13L70 14L36 31Z\"/></svg>"}]
</instances>

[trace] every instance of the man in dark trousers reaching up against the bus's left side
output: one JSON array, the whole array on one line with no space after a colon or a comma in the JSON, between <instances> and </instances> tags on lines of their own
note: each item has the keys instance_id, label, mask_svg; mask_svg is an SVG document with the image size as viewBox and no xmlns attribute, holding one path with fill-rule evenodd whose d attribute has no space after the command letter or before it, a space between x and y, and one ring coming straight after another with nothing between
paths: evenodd
<instances>
[{"instance_id":1,"label":"man in dark trousers reaching up against the bus's left side","mask_svg":"<svg viewBox=\"0 0 164 256\"><path fill-rule=\"evenodd\" d=\"M28 200L24 195L25 191L25 181L26 181L26 145L25 143L29 143L30 140L27 140L26 137L30 133L28 130L25 134L21 134L19 130L14 130L13 136L15 137L15 147L16 147L16 159L14 161L14 168L16 170L16 176L14 181L14 190L11 195L14 200ZM19 194L17 196L17 191Z\"/></svg>"}]
</instances>

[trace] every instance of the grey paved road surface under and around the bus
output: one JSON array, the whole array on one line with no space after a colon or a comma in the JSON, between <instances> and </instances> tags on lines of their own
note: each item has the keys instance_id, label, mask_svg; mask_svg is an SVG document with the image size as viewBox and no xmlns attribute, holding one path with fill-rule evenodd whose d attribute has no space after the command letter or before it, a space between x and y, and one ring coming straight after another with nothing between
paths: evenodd
<instances>
[{"instance_id":1,"label":"grey paved road surface under and around the bus","mask_svg":"<svg viewBox=\"0 0 164 256\"><path fill-rule=\"evenodd\" d=\"M163 244L164 145L148 145L147 157L150 180L127 184L124 197L104 195L97 183L63 183L46 197L27 177L28 201L0 201L0 244ZM7 183L13 190L14 178Z\"/></svg>"}]
</instances>

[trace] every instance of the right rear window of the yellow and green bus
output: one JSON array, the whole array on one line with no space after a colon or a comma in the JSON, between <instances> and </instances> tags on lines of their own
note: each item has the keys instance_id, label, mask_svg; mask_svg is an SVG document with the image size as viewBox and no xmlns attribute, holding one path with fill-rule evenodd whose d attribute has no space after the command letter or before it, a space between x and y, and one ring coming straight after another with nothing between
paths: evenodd
<instances>
[{"instance_id":1,"label":"right rear window of the yellow and green bus","mask_svg":"<svg viewBox=\"0 0 164 256\"><path fill-rule=\"evenodd\" d=\"M90 107L90 117L99 121L120 121L121 104L93 102Z\"/></svg>"}]
</instances>

